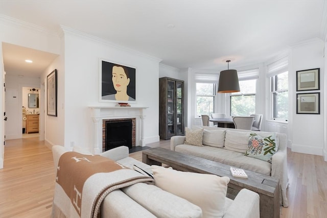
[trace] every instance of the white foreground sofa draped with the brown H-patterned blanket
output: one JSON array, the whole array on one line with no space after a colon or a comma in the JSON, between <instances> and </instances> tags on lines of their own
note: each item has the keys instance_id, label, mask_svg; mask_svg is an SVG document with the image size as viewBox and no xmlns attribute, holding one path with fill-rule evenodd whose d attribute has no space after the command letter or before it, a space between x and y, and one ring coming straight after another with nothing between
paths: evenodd
<instances>
[{"instance_id":1,"label":"white foreground sofa draped with the brown H-patterned blanket","mask_svg":"<svg viewBox=\"0 0 327 218\"><path fill-rule=\"evenodd\" d=\"M74 151L82 153L81 150ZM60 156L67 152L62 146L52 147L54 166L57 166ZM112 159L129 168L133 164L152 173L151 166L137 161L128 154L127 147L119 147L101 156ZM172 178L173 179L173 178ZM259 195L248 189L242 189L234 200L225 198L223 217L256 218L259 217ZM53 203L52 217L66 217ZM202 210L197 205L186 201L159 187L136 183L134 185L116 189L105 197L101 205L101 217L203 217Z\"/></svg>"}]
</instances>

